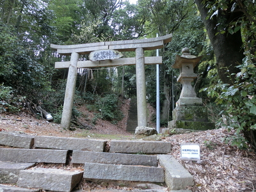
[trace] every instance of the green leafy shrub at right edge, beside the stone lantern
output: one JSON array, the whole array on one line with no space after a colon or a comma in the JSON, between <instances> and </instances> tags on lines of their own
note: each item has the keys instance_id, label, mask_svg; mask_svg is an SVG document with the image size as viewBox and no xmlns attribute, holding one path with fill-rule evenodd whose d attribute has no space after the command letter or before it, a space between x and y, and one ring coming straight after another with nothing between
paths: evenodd
<instances>
[{"instance_id":1,"label":"green leafy shrub at right edge, beside the stone lantern","mask_svg":"<svg viewBox=\"0 0 256 192\"><path fill-rule=\"evenodd\" d=\"M236 81L232 86L223 84L212 85L204 88L209 97L216 98L216 103L226 108L226 115L232 122L232 127L236 129L237 137L233 144L240 146L244 140L241 140L241 133L254 146L254 132L256 131L256 67L248 56L244 58L243 64L237 66L241 72L236 74ZM235 75L235 74L231 74ZM241 141L241 143L239 143Z\"/></svg>"}]
</instances>

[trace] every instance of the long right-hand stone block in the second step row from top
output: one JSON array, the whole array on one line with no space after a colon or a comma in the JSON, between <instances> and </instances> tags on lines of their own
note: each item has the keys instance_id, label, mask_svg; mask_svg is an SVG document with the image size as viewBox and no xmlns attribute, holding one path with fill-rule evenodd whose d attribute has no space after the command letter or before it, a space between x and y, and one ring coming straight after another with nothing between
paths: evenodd
<instances>
[{"instance_id":1,"label":"long right-hand stone block in the second step row from top","mask_svg":"<svg viewBox=\"0 0 256 192\"><path fill-rule=\"evenodd\" d=\"M72 163L102 163L157 166L157 156L118 154L106 152L88 152L74 150Z\"/></svg>"}]
</instances>

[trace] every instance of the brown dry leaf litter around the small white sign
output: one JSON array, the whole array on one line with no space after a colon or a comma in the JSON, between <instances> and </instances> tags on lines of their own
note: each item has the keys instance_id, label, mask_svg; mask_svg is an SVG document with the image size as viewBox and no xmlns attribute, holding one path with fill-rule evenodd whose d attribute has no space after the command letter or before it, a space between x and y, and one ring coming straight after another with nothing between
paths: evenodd
<instances>
[{"instance_id":1,"label":"brown dry leaf litter around the small white sign","mask_svg":"<svg viewBox=\"0 0 256 192\"><path fill-rule=\"evenodd\" d=\"M166 138L173 144L172 155L195 179L192 191L255 191L256 154L226 144L225 139L233 134L227 129L214 129ZM199 143L200 161L180 160L181 143Z\"/></svg>"}]
</instances>

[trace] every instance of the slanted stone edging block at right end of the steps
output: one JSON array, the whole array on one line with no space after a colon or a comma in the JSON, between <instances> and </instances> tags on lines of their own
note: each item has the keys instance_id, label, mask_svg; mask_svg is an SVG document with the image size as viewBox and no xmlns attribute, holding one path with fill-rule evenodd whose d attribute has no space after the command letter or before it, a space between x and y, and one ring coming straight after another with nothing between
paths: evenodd
<instances>
[{"instance_id":1,"label":"slanted stone edging block at right end of the steps","mask_svg":"<svg viewBox=\"0 0 256 192\"><path fill-rule=\"evenodd\" d=\"M164 168L165 183L170 190L186 189L195 184L193 176L173 156L157 155Z\"/></svg>"}]
</instances>

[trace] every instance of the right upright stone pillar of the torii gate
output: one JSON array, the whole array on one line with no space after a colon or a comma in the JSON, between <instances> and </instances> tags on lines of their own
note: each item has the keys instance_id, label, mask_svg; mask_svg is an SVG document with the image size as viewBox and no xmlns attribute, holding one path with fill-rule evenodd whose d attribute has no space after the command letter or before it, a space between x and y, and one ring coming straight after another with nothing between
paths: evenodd
<instances>
[{"instance_id":1,"label":"right upright stone pillar of the torii gate","mask_svg":"<svg viewBox=\"0 0 256 192\"><path fill-rule=\"evenodd\" d=\"M137 48L135 53L138 126L147 127L147 98L144 50L143 48Z\"/></svg>"}]
</instances>

